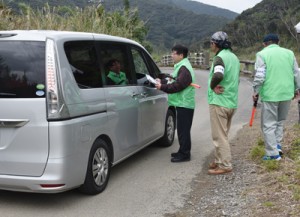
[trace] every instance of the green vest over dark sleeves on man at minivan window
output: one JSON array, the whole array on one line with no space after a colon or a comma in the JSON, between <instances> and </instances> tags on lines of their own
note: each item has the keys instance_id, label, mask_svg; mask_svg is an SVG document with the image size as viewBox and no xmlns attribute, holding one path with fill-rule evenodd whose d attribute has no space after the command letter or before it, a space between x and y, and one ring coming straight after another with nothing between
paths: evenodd
<instances>
[{"instance_id":1,"label":"green vest over dark sleeves on man at minivan window","mask_svg":"<svg viewBox=\"0 0 300 217\"><path fill-rule=\"evenodd\" d=\"M195 74L194 74L193 67L190 61L188 60L188 58L184 58L179 63L174 65L174 72L172 73L173 78L176 79L178 77L178 71L182 66L185 66L189 70L192 76L192 83L194 83ZM188 86L187 88L183 89L180 92L168 94L168 102L169 105L171 106L194 109L195 88L192 86Z\"/></svg>"}]
</instances>

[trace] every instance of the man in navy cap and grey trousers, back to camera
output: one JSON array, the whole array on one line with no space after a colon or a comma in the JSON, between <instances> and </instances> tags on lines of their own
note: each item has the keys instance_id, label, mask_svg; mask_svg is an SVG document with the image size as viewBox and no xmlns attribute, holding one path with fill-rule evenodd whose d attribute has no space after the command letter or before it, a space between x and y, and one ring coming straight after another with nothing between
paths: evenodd
<instances>
[{"instance_id":1,"label":"man in navy cap and grey trousers, back to camera","mask_svg":"<svg viewBox=\"0 0 300 217\"><path fill-rule=\"evenodd\" d=\"M263 160L280 160L283 122L291 100L299 94L298 64L291 50L278 45L279 37L268 34L264 48L256 54L253 100L262 102L261 129L264 135Z\"/></svg>"}]
</instances>

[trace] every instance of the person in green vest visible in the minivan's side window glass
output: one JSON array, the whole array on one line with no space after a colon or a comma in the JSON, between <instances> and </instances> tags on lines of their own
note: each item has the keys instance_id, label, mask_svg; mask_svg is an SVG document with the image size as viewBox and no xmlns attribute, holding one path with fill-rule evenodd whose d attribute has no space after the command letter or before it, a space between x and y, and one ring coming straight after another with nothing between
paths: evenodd
<instances>
[{"instance_id":1,"label":"person in green vest visible in the minivan's side window glass","mask_svg":"<svg viewBox=\"0 0 300 217\"><path fill-rule=\"evenodd\" d=\"M109 73L107 75L108 85L126 85L128 83L126 74L121 72L121 64L119 60L109 60L106 67L109 69Z\"/></svg>"}]
</instances>

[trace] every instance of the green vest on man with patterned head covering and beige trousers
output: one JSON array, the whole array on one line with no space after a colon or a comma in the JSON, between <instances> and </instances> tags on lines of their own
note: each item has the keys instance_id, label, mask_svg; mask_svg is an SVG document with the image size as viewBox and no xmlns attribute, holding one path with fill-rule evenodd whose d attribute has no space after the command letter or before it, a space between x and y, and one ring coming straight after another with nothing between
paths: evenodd
<instances>
[{"instance_id":1,"label":"green vest on man with patterned head covering and beige trousers","mask_svg":"<svg viewBox=\"0 0 300 217\"><path fill-rule=\"evenodd\" d=\"M216 94L210 88L211 79L214 75L213 61L208 79L208 104L235 109L238 103L240 61L229 49L221 50L216 56L221 57L225 65L224 77L219 83L219 85L224 87L224 92L222 94ZM214 58L216 58L216 56Z\"/></svg>"}]
</instances>

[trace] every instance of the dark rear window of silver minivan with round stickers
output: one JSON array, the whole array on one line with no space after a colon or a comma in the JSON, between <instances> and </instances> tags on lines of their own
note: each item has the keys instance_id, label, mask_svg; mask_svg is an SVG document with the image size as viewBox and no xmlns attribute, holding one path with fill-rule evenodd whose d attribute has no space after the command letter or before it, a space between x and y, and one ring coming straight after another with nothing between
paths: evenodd
<instances>
[{"instance_id":1,"label":"dark rear window of silver minivan with round stickers","mask_svg":"<svg viewBox=\"0 0 300 217\"><path fill-rule=\"evenodd\" d=\"M0 98L38 98L45 92L45 42L0 41Z\"/></svg>"}]
</instances>

